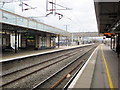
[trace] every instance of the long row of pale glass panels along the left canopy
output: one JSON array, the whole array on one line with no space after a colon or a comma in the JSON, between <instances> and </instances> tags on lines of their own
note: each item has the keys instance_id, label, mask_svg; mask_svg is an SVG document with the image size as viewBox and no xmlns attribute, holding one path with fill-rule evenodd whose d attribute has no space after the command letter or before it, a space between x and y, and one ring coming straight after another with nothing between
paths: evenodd
<instances>
[{"instance_id":1,"label":"long row of pale glass panels along the left canopy","mask_svg":"<svg viewBox=\"0 0 120 90\"><path fill-rule=\"evenodd\" d=\"M56 34L64 34L65 32L41 23L37 23L35 21L32 20L28 20L24 17L20 17L17 16L15 14L11 14L8 12L4 12L2 13L2 11L0 11L0 15L2 15L1 19L2 22L4 23L8 23L8 24L13 24L13 25L18 25L18 26L23 26L23 27L28 27L28 28L32 28L32 29L37 29L40 31L46 31L46 32L51 32L51 33L56 33Z\"/></svg>"}]
</instances>

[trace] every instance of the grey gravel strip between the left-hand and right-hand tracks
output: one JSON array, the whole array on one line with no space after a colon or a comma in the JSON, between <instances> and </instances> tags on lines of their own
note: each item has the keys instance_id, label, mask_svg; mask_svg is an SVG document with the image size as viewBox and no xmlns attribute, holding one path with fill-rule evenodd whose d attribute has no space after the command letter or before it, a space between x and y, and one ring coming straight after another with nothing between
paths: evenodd
<instances>
[{"instance_id":1,"label":"grey gravel strip between the left-hand and right-hand tracks","mask_svg":"<svg viewBox=\"0 0 120 90\"><path fill-rule=\"evenodd\" d=\"M81 51L80 51L80 53L78 55L80 55L80 54L82 54ZM67 63L69 63L71 60L73 60L78 55L76 54L74 57L67 58L65 61L59 62L56 65L52 65L49 68L46 68L46 69L41 70L41 71L38 71L38 72L36 72L36 73L34 73L34 74L30 75L30 76L27 76L27 77L25 77L25 78L23 78L21 80L18 80L17 82L11 83L8 86L5 86L5 88L32 88L38 82L43 81L45 78L47 78L51 74L53 74L56 71L58 71L61 67L65 66ZM39 67L41 67L41 66L39 66ZM36 68L38 68L38 67L36 67ZM5 80L8 80L8 79L12 80L12 78L19 77L19 75L26 74L26 73L28 73L30 71L32 71L32 70L28 69L28 70L26 70L24 72L19 73L18 75L11 75L10 77L6 77Z\"/></svg>"}]
</instances>

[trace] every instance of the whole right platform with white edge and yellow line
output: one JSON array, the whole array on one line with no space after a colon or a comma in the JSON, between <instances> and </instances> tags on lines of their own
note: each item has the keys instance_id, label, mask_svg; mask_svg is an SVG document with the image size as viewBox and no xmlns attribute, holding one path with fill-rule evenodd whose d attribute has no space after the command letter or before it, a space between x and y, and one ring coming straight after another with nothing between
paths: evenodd
<instances>
[{"instance_id":1,"label":"whole right platform with white edge and yellow line","mask_svg":"<svg viewBox=\"0 0 120 90\"><path fill-rule=\"evenodd\" d=\"M109 46L99 45L74 78L69 88L118 88L120 58ZM114 90L114 89L112 89Z\"/></svg>"}]
</instances>

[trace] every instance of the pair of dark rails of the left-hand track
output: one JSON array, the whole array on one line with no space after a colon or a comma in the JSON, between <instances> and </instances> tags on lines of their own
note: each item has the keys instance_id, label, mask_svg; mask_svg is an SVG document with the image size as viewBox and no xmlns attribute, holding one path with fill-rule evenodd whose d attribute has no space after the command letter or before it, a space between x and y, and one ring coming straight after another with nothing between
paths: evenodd
<instances>
[{"instance_id":1,"label":"pair of dark rails of the left-hand track","mask_svg":"<svg viewBox=\"0 0 120 90\"><path fill-rule=\"evenodd\" d=\"M70 55L69 55L69 54L70 54ZM56 58L60 58L60 59L58 59L57 61L55 61L55 62L53 62L53 63L50 63L50 64L49 64L48 62L53 61L53 60L55 60L56 58L49 59L48 61L44 61L44 62L35 64L35 65L32 65L32 66L23 68L23 69L18 70L18 71L14 71L14 72L5 74L5 75L2 76L2 78L8 77L8 75L11 76L11 75L14 74L14 73L18 73L18 74L19 74L19 73L22 72L22 71L25 72L25 71L28 70L28 69L32 69L32 68L34 68L34 67L36 67L36 66L38 67L38 66L41 65L41 64L45 64L45 65L42 65L43 67L41 67L41 68L39 68L39 69L36 69L36 70L33 70L32 72L29 72L29 73L27 73L27 74L25 74L25 75L23 75L23 76L19 76L19 77L16 78L16 79L14 78L14 80L11 80L11 81L9 81L9 82L7 82L7 83L4 83L2 86L8 85L8 84L10 84L10 83L12 83L12 82L15 82L15 81L19 80L19 79L22 79L22 78L24 78L24 77L27 77L28 75L31 75L31 74L33 74L33 73L35 73L35 72L38 72L38 71L43 70L43 69L45 69L45 68L48 68L48 67L50 67L51 65L54 65L54 64L56 64L56 63L58 63L58 62L61 62L61 61L65 60L66 58L68 58L69 56L72 56L72 55L75 55L75 54L76 54L76 53L74 53L74 54L67 53L67 54L65 54L65 55L62 55L62 56L65 56L65 57L63 57L63 58L60 58L61 56L56 57ZM46 63L48 63L48 65L47 65Z\"/></svg>"}]
</instances>

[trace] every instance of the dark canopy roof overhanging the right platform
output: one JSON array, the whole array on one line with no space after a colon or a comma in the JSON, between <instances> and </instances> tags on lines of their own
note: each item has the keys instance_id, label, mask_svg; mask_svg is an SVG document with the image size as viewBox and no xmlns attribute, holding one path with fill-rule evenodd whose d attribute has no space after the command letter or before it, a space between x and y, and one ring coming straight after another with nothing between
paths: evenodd
<instances>
[{"instance_id":1,"label":"dark canopy roof overhanging the right platform","mask_svg":"<svg viewBox=\"0 0 120 90\"><path fill-rule=\"evenodd\" d=\"M94 0L99 33L120 33L120 0Z\"/></svg>"}]
</instances>

